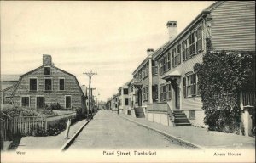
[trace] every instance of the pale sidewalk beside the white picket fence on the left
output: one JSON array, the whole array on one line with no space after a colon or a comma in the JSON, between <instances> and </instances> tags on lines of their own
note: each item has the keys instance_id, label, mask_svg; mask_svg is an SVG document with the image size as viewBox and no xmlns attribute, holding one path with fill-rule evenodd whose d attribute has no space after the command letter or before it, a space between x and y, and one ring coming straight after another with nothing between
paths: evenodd
<instances>
[{"instance_id":1,"label":"pale sidewalk beside the white picket fence on the left","mask_svg":"<svg viewBox=\"0 0 256 163\"><path fill-rule=\"evenodd\" d=\"M82 120L70 126L68 138L72 138L73 135L83 126L88 120ZM25 151L26 149L61 149L68 139L64 138L66 130L56 136L48 137L22 137L20 144L16 151Z\"/></svg>"}]
</instances>

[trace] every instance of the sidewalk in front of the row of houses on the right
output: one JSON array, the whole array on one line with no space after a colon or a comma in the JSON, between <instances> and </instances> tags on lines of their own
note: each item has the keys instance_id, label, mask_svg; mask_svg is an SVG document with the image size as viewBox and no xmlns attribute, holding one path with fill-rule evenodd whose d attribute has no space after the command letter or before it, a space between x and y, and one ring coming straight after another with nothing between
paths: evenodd
<instances>
[{"instance_id":1,"label":"sidewalk in front of the row of houses on the right","mask_svg":"<svg viewBox=\"0 0 256 163\"><path fill-rule=\"evenodd\" d=\"M145 118L135 118L124 114L119 116L200 149L255 149L255 138L252 137L245 137L234 133L207 131L206 128L195 126L164 126L148 121Z\"/></svg>"}]
</instances>

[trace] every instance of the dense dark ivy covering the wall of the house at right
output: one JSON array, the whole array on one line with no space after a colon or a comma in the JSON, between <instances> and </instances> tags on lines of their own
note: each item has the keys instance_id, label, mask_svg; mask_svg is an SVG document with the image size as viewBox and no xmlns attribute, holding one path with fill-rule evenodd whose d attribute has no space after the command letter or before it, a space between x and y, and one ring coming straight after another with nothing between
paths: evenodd
<instances>
[{"instance_id":1,"label":"dense dark ivy covering the wall of the house at right","mask_svg":"<svg viewBox=\"0 0 256 163\"><path fill-rule=\"evenodd\" d=\"M207 51L203 63L195 64L202 109L206 114L204 122L209 130L239 132L239 96L244 86L253 81L254 63L253 53ZM229 98L225 98L227 94Z\"/></svg>"}]
</instances>

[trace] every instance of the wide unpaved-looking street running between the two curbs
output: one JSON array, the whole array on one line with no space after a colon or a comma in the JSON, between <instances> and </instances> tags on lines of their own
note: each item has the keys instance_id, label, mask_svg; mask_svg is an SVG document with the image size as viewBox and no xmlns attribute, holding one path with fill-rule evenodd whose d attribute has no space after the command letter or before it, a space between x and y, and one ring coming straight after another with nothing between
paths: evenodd
<instances>
[{"instance_id":1,"label":"wide unpaved-looking street running between the two curbs","mask_svg":"<svg viewBox=\"0 0 256 163\"><path fill-rule=\"evenodd\" d=\"M158 132L138 126L108 110L100 110L67 150L102 148L187 149L188 147L181 146Z\"/></svg>"}]
</instances>

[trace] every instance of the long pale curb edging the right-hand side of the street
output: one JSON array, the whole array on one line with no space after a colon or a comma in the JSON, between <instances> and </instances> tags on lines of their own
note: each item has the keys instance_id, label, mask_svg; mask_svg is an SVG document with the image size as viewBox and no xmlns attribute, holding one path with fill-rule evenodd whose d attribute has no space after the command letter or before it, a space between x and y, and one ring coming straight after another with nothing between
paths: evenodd
<instances>
[{"instance_id":1,"label":"long pale curb edging the right-hand side of the street","mask_svg":"<svg viewBox=\"0 0 256 163\"><path fill-rule=\"evenodd\" d=\"M125 120L132 121L132 122L134 122L134 123L137 123L137 125L143 126L143 127L148 128L148 129L150 129L150 130L153 130L153 131L155 131L155 132L159 132L160 134L165 135L165 136L168 137L168 138L175 139L175 140L177 140L177 141L180 142L180 143L184 143L184 144L186 144L186 145L189 145L190 147L193 147L193 148L196 148L196 149L203 149L203 150L206 150L206 148L201 147L200 145L197 145L197 144L195 144L195 143L191 143L191 142L189 142L189 141L187 141L187 140L184 140L184 139L182 139L182 138L177 138L177 137L175 137L175 136L173 136L173 135L170 135L169 133L162 132L162 131L160 131L160 130L154 128L154 127L144 125L144 124L139 123L139 122L137 122L137 121L133 121L133 120L131 120L131 119L129 119L129 118L126 118L126 117L123 116L123 115L119 115L119 116L122 117L122 118L124 118Z\"/></svg>"}]
</instances>

